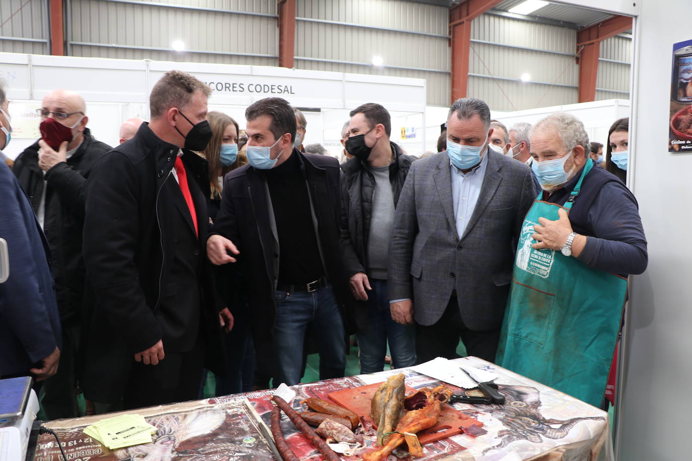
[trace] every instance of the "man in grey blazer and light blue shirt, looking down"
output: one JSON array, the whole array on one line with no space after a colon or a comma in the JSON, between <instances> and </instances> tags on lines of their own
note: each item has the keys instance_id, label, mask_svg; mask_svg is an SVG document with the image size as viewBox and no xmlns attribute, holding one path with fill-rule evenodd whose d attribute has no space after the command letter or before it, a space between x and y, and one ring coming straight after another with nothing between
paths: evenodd
<instances>
[{"instance_id":1,"label":"man in grey blazer and light blue shirt, looking down","mask_svg":"<svg viewBox=\"0 0 692 461\"><path fill-rule=\"evenodd\" d=\"M416 324L419 363L494 361L516 241L536 198L531 169L489 149L490 109L454 102L447 150L411 165L390 239L392 318Z\"/></svg>"}]
</instances>

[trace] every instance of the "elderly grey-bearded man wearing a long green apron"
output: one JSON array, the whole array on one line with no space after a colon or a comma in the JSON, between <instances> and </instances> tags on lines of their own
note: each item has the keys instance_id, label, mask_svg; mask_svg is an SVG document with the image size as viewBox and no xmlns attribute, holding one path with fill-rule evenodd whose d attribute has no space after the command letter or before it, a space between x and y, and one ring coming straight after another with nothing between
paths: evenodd
<instances>
[{"instance_id":1,"label":"elderly grey-bearded man wearing a long green apron","mask_svg":"<svg viewBox=\"0 0 692 461\"><path fill-rule=\"evenodd\" d=\"M588 158L573 115L548 115L529 138L543 191L522 225L496 361L599 406L627 276L648 262L637 200Z\"/></svg>"}]
</instances>

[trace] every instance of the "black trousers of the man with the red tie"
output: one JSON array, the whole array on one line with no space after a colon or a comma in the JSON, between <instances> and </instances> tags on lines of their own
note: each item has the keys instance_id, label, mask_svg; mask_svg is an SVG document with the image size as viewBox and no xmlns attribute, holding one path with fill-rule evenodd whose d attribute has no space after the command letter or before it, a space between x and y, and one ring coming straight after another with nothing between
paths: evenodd
<instances>
[{"instance_id":1,"label":"black trousers of the man with the red tie","mask_svg":"<svg viewBox=\"0 0 692 461\"><path fill-rule=\"evenodd\" d=\"M197 399L205 346L201 335L190 352L168 352L158 365L134 362L122 395L122 408L142 408ZM134 360L134 358L133 358Z\"/></svg>"}]
</instances>

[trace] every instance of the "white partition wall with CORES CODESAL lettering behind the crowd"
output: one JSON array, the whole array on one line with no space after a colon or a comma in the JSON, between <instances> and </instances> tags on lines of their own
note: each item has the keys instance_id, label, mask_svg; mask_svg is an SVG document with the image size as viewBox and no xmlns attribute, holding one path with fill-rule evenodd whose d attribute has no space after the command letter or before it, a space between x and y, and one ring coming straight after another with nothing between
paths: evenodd
<instances>
[{"instance_id":1,"label":"white partition wall with CORES CODESAL lettering behind the crowd","mask_svg":"<svg viewBox=\"0 0 692 461\"><path fill-rule=\"evenodd\" d=\"M67 88L80 93L87 106L93 135L114 145L120 124L130 117L148 119L149 93L167 70L191 73L212 88L210 110L228 113L245 126L247 106L264 97L283 97L304 108L308 121L304 144L327 144L340 152L340 129L348 112L365 102L379 102L392 118L405 117L392 125L397 140L398 124L424 126L426 82L424 79L359 75L321 70L297 70L266 66L233 66L156 62L151 60L102 59L0 53L0 77L9 84L13 140L6 154L15 158L38 137L35 109L48 91ZM326 116L329 111L336 116ZM416 122L406 117L417 117ZM329 138L325 137L329 135ZM407 140L411 149L423 151L425 132Z\"/></svg>"}]
</instances>

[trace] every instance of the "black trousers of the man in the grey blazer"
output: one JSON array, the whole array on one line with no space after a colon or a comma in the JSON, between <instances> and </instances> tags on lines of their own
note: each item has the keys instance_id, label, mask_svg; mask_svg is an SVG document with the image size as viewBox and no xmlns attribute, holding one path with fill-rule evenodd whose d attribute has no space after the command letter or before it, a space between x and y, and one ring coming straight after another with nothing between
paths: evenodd
<instances>
[{"instance_id":1,"label":"black trousers of the man in the grey blazer","mask_svg":"<svg viewBox=\"0 0 692 461\"><path fill-rule=\"evenodd\" d=\"M414 304L415 305L415 304ZM416 355L418 363L444 357L455 359L459 338L466 347L466 355L494 362L500 342L500 328L473 331L466 328L459 313L457 296L453 294L442 317L430 326L416 324Z\"/></svg>"}]
</instances>

